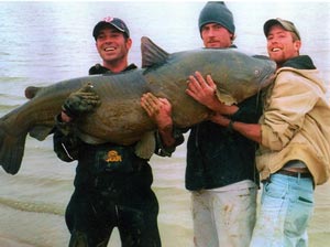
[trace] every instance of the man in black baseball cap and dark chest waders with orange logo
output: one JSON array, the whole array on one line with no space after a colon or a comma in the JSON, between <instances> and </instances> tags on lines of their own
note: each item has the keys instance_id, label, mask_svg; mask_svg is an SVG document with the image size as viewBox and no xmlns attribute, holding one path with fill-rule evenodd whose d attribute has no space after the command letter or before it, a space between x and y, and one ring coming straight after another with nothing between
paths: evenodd
<instances>
[{"instance_id":1,"label":"man in black baseball cap and dark chest waders with orange logo","mask_svg":"<svg viewBox=\"0 0 330 247\"><path fill-rule=\"evenodd\" d=\"M132 40L122 20L106 18L92 35L103 63L92 66L89 74L136 68L128 65ZM89 144L75 136L75 119L98 104L87 85L66 99L57 118L54 150L64 161L78 161L75 192L65 215L72 234L69 247L106 247L116 226L123 247L158 247L158 202L151 189L147 160L135 154L134 146Z\"/></svg>"}]
</instances>

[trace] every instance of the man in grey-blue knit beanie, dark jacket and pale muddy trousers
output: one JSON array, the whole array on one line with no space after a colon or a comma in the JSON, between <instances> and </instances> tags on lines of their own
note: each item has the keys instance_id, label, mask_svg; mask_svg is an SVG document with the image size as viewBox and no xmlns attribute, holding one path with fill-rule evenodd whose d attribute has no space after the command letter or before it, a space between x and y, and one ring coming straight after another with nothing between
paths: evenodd
<instances>
[{"instance_id":1,"label":"man in grey-blue knit beanie, dark jacket and pale muddy trousers","mask_svg":"<svg viewBox=\"0 0 330 247\"><path fill-rule=\"evenodd\" d=\"M199 15L199 31L207 49L234 47L234 22L223 2L208 2ZM198 68L197 68L198 69ZM226 106L215 95L216 85L199 73L189 77L187 94L215 112L232 119L257 122L262 104L253 96L237 106ZM151 94L142 106L155 121L165 121L167 105ZM165 117L164 117L165 116ZM165 146L174 143L162 136ZM195 246L246 246L255 223L257 172L256 143L231 128L211 121L194 126L187 144L186 187L191 191Z\"/></svg>"}]
</instances>

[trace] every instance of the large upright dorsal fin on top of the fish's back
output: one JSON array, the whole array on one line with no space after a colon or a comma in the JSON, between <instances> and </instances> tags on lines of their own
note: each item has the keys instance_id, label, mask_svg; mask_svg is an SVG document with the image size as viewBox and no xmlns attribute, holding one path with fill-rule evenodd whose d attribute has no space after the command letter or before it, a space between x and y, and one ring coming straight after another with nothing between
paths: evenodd
<instances>
[{"instance_id":1,"label":"large upright dorsal fin on top of the fish's back","mask_svg":"<svg viewBox=\"0 0 330 247\"><path fill-rule=\"evenodd\" d=\"M155 64L163 64L169 53L165 52L148 37L141 37L142 67L151 67Z\"/></svg>"}]
</instances>

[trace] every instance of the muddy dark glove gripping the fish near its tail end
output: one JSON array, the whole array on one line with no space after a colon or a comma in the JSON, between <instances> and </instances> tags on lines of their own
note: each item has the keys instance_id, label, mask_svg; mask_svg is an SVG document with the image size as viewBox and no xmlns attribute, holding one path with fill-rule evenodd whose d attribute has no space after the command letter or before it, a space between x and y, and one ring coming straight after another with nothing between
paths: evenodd
<instances>
[{"instance_id":1,"label":"muddy dark glove gripping the fish near its tail end","mask_svg":"<svg viewBox=\"0 0 330 247\"><path fill-rule=\"evenodd\" d=\"M64 101L62 109L68 117L77 118L94 110L100 104L99 96L94 92L92 85L88 83L79 90L70 94Z\"/></svg>"}]
</instances>

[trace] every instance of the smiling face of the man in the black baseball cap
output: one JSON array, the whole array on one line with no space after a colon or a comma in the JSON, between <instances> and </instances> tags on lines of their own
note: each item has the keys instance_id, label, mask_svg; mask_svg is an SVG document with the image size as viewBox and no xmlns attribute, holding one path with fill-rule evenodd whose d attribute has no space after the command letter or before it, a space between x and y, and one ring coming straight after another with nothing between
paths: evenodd
<instances>
[{"instance_id":1,"label":"smiling face of the man in the black baseball cap","mask_svg":"<svg viewBox=\"0 0 330 247\"><path fill-rule=\"evenodd\" d=\"M132 40L114 28L106 28L96 40L97 50L103 60L103 66L112 72L123 71L128 65L128 53Z\"/></svg>"}]
</instances>

